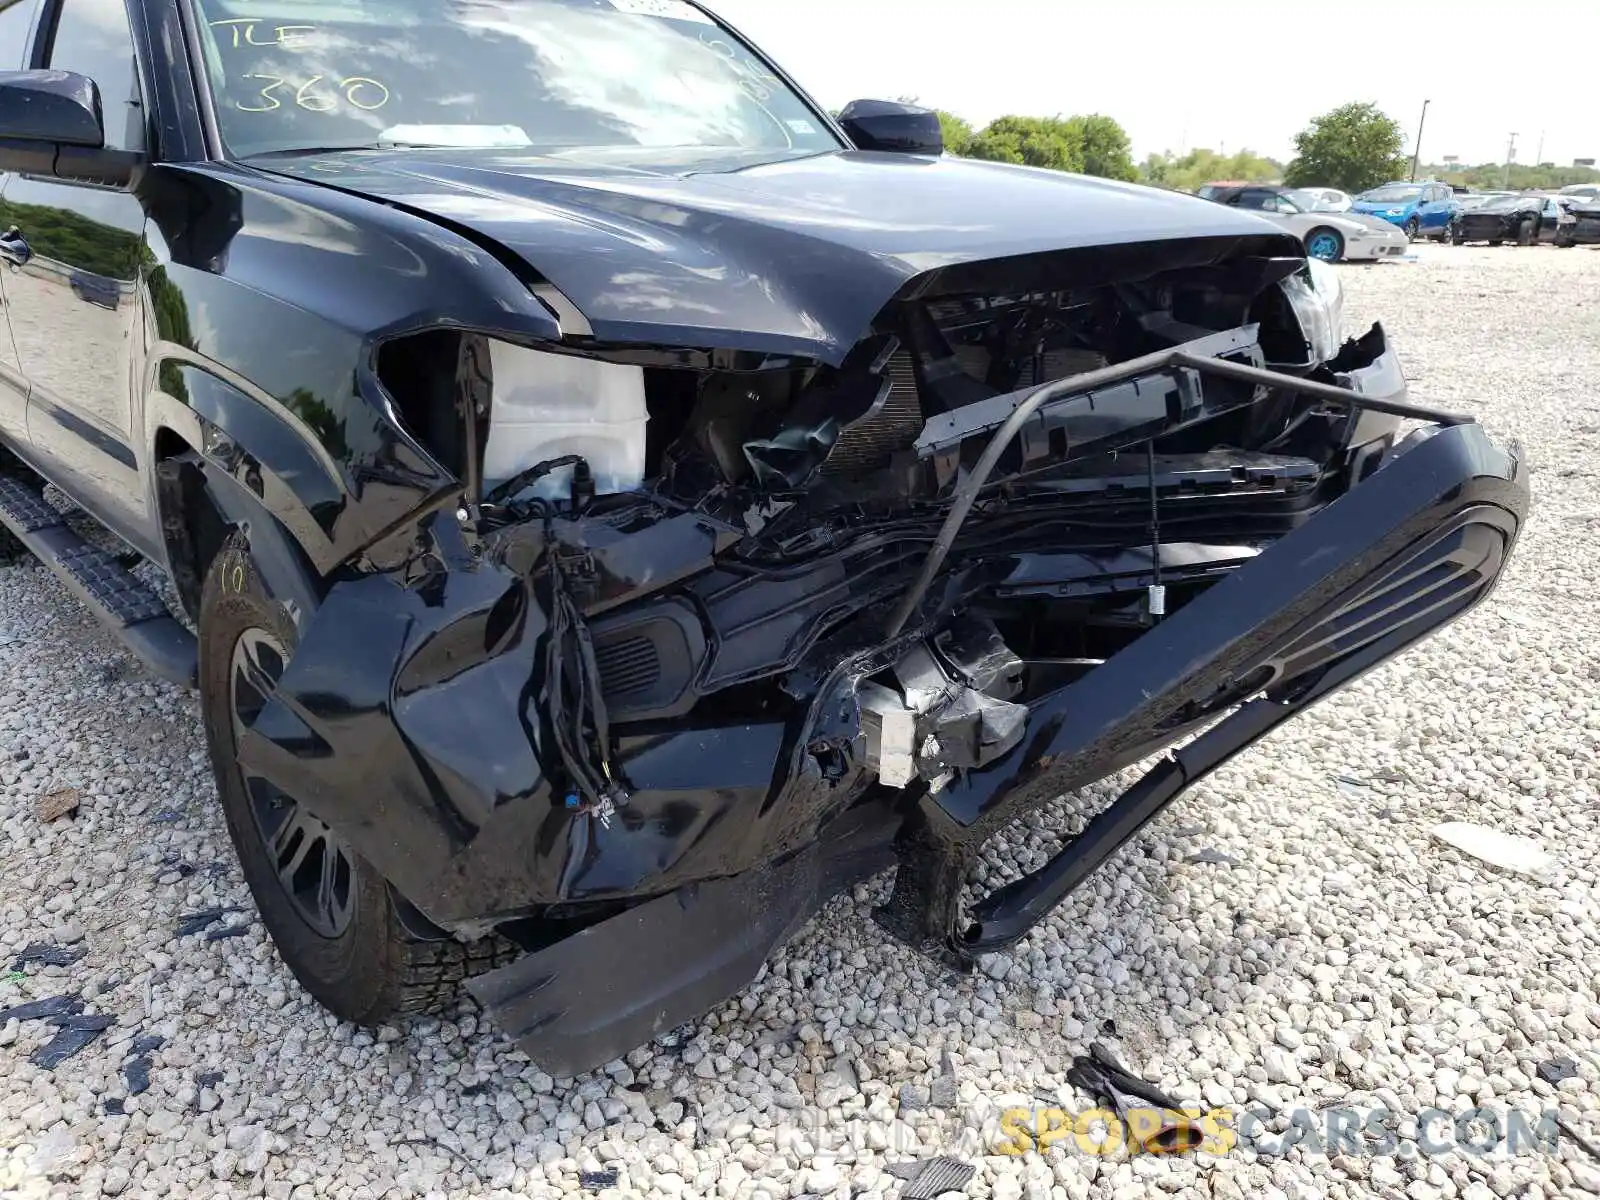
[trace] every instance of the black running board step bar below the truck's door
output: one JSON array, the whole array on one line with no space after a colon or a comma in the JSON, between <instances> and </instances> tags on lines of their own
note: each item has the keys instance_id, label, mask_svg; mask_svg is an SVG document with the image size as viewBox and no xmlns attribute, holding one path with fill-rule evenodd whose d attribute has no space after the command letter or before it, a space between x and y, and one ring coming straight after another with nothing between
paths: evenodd
<instances>
[{"instance_id":1,"label":"black running board step bar below the truck's door","mask_svg":"<svg viewBox=\"0 0 1600 1200\"><path fill-rule=\"evenodd\" d=\"M198 646L147 584L110 550L83 541L66 517L13 475L0 475L0 523L6 525L146 667L192 688Z\"/></svg>"}]
</instances>

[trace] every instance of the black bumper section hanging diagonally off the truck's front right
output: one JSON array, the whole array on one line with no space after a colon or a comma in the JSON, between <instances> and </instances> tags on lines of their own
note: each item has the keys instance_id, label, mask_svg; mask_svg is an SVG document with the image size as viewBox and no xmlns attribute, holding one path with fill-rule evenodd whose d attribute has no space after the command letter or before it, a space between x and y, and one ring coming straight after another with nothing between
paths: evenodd
<instances>
[{"instance_id":1,"label":"black bumper section hanging diagonally off the truck's front right","mask_svg":"<svg viewBox=\"0 0 1600 1200\"><path fill-rule=\"evenodd\" d=\"M1482 427L1419 442L1088 678L1034 702L1008 758L925 797L878 922L962 966L1018 941L1195 781L1480 603L1526 507L1517 451ZM962 888L995 830L1219 718L963 922Z\"/></svg>"}]
</instances>

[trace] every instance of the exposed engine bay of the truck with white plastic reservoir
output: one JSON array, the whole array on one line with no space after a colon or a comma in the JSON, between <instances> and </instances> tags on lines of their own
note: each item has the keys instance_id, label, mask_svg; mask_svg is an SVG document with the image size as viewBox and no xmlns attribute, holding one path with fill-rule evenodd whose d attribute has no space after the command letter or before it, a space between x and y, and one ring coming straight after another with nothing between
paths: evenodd
<instances>
[{"instance_id":1,"label":"exposed engine bay of the truck with white plastic reservoir","mask_svg":"<svg viewBox=\"0 0 1600 1200\"><path fill-rule=\"evenodd\" d=\"M571 645L552 658L550 701L576 806L626 794L610 730L810 704L819 646L883 642L885 618L867 614L912 587L958 483L1037 387L1171 347L1331 382L1341 365L1314 344L1328 331L1301 315L1322 312L1315 286L1298 259L1248 258L912 299L837 370L469 339L461 413L494 464L470 525L488 560L554 592ZM1365 365L1352 349L1347 366ZM1392 426L1360 430L1374 454ZM958 624L859 682L859 731L816 747L822 770L939 789L1003 755L1030 686L1093 670L1342 488L1355 432L1315 402L1190 368L1043 405L923 605Z\"/></svg>"}]
</instances>

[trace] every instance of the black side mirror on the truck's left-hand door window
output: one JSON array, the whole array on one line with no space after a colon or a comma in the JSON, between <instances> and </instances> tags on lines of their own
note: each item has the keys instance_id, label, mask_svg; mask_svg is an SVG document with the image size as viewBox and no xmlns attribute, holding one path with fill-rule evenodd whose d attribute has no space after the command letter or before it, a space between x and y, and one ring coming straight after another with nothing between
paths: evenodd
<instances>
[{"instance_id":1,"label":"black side mirror on the truck's left-hand door window","mask_svg":"<svg viewBox=\"0 0 1600 1200\"><path fill-rule=\"evenodd\" d=\"M125 184L139 163L107 150L99 86L75 70L0 70L0 171Z\"/></svg>"}]
</instances>

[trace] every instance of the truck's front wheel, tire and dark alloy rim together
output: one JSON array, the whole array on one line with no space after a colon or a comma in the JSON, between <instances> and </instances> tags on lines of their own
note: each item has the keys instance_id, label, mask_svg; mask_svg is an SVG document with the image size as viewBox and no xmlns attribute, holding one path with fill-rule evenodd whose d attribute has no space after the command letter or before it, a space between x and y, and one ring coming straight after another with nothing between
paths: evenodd
<instances>
[{"instance_id":1,"label":"truck's front wheel, tire and dark alloy rim together","mask_svg":"<svg viewBox=\"0 0 1600 1200\"><path fill-rule=\"evenodd\" d=\"M298 630L235 534L200 602L200 709L227 832L283 962L333 1014L381 1024L454 998L504 942L418 938L384 878L304 803L245 771L238 744L272 701Z\"/></svg>"}]
</instances>

